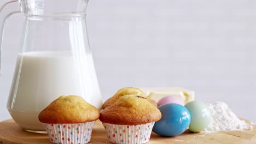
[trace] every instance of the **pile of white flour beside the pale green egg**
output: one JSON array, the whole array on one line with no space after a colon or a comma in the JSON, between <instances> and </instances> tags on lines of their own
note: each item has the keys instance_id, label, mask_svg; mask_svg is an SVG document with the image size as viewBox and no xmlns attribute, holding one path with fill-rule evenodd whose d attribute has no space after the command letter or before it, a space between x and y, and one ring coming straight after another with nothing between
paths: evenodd
<instances>
[{"instance_id":1,"label":"pile of white flour beside the pale green egg","mask_svg":"<svg viewBox=\"0 0 256 144\"><path fill-rule=\"evenodd\" d=\"M212 121L205 131L239 131L253 128L252 124L240 120L223 102L207 104L207 106L212 113Z\"/></svg>"}]
</instances>

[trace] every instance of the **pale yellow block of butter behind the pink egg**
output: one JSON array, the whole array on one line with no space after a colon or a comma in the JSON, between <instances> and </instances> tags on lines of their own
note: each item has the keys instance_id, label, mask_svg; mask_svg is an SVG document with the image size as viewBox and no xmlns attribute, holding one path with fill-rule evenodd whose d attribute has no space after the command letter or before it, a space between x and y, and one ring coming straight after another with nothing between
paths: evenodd
<instances>
[{"instance_id":1,"label":"pale yellow block of butter behind the pink egg","mask_svg":"<svg viewBox=\"0 0 256 144\"><path fill-rule=\"evenodd\" d=\"M165 96L176 96L187 104L189 101L195 100L195 92L181 87L154 87L154 88L140 88L149 98L158 102Z\"/></svg>"}]
</instances>

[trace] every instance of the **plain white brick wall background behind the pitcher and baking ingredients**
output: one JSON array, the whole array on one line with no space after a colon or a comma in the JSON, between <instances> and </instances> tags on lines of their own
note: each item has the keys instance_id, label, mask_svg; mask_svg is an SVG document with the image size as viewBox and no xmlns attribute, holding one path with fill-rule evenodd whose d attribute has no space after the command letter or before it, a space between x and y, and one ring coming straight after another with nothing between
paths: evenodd
<instances>
[{"instance_id":1,"label":"plain white brick wall background behind the pitcher and baking ingredients","mask_svg":"<svg viewBox=\"0 0 256 144\"><path fill-rule=\"evenodd\" d=\"M256 122L255 1L91 0L87 18L104 99L126 86L185 87ZM0 121L10 118L20 20L11 17L5 29Z\"/></svg>"}]
</instances>

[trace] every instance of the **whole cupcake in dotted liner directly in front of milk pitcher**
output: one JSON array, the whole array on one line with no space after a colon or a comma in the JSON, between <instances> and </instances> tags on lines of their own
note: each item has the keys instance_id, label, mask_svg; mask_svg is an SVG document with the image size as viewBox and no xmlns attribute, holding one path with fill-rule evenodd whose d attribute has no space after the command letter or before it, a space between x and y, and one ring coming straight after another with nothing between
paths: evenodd
<instances>
[{"instance_id":1,"label":"whole cupcake in dotted liner directly in front of milk pitcher","mask_svg":"<svg viewBox=\"0 0 256 144\"><path fill-rule=\"evenodd\" d=\"M100 117L96 107L82 97L61 96L39 113L39 121L53 143L88 143Z\"/></svg>"}]
</instances>

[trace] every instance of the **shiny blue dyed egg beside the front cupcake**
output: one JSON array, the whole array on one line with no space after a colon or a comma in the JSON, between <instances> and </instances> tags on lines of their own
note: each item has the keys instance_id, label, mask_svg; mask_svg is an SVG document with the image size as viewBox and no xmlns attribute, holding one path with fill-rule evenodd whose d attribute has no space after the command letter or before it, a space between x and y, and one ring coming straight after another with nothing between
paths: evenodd
<instances>
[{"instance_id":1,"label":"shiny blue dyed egg beside the front cupcake","mask_svg":"<svg viewBox=\"0 0 256 144\"><path fill-rule=\"evenodd\" d=\"M158 107L162 118L155 122L153 131L162 136L177 136L188 129L190 114L186 107L179 104L165 104Z\"/></svg>"}]
</instances>

